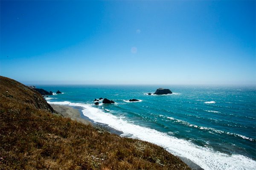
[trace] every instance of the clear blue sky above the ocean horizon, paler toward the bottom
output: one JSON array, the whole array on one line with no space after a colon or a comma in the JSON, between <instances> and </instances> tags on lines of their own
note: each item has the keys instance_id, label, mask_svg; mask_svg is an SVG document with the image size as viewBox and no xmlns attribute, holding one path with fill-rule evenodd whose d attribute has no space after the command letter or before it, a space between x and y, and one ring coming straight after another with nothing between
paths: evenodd
<instances>
[{"instance_id":1,"label":"clear blue sky above the ocean horizon, paler toward the bottom","mask_svg":"<svg viewBox=\"0 0 256 170\"><path fill-rule=\"evenodd\" d=\"M256 84L256 1L0 1L0 75Z\"/></svg>"}]
</instances>

